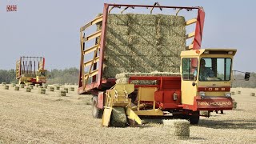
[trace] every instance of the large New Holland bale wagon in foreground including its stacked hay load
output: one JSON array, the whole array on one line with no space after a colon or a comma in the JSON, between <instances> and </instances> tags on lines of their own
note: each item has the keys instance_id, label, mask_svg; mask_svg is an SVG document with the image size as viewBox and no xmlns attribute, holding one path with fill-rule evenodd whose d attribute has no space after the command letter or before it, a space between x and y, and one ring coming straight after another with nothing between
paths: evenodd
<instances>
[{"instance_id":1,"label":"large New Holland bale wagon in foreground including its stacked hay load","mask_svg":"<svg viewBox=\"0 0 256 144\"><path fill-rule=\"evenodd\" d=\"M113 13L119 9L121 14ZM127 9L149 14L124 14ZM158 9L174 10L174 15L153 14ZM186 20L181 11L197 15ZM229 75L236 52L201 50L204 18L202 7L104 4L103 13L80 29L78 94L94 94L93 116L102 118L103 126L114 125L111 118L121 126L126 122L114 114L130 124L141 124L141 116L169 114L198 123L199 110L231 110L232 99L226 95L230 78L202 81L199 73L194 75L202 58L211 62L216 77L217 63L230 62L223 74ZM93 26L96 32L89 34Z\"/></svg>"}]
</instances>

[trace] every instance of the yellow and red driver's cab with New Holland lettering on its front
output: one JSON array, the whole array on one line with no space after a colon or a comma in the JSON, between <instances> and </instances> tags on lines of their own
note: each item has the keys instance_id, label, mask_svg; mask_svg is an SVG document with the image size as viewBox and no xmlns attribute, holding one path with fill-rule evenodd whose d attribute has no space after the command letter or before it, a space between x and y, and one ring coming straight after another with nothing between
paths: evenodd
<instances>
[{"instance_id":1,"label":"yellow and red driver's cab with New Holland lettering on its front","mask_svg":"<svg viewBox=\"0 0 256 144\"><path fill-rule=\"evenodd\" d=\"M190 110L231 110L235 49L182 51L182 104Z\"/></svg>"}]
</instances>

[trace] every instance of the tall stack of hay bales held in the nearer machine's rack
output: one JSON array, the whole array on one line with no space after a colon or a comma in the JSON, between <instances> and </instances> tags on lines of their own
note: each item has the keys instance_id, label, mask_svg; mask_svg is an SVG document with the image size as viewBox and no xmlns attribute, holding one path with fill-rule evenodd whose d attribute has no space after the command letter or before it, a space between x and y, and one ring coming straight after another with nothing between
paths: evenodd
<instances>
[{"instance_id":1,"label":"tall stack of hay bales held in the nearer machine's rack","mask_svg":"<svg viewBox=\"0 0 256 144\"><path fill-rule=\"evenodd\" d=\"M100 29L101 24L98 24ZM103 78L120 73L179 72L186 49L185 18L162 14L110 14Z\"/></svg>"}]
</instances>

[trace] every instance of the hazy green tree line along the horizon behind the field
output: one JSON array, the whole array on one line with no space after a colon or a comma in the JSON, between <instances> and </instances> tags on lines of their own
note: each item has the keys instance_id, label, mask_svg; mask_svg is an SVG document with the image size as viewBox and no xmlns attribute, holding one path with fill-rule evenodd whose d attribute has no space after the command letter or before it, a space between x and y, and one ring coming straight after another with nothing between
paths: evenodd
<instances>
[{"instance_id":1,"label":"hazy green tree line along the horizon behind the field","mask_svg":"<svg viewBox=\"0 0 256 144\"><path fill-rule=\"evenodd\" d=\"M72 67L65 70L50 70L47 71L47 83L48 84L78 84L78 68ZM235 74L232 87L250 87L256 88L256 73L250 74L250 80L245 81L244 74ZM16 79L15 70L0 70L0 83L18 83Z\"/></svg>"}]
</instances>

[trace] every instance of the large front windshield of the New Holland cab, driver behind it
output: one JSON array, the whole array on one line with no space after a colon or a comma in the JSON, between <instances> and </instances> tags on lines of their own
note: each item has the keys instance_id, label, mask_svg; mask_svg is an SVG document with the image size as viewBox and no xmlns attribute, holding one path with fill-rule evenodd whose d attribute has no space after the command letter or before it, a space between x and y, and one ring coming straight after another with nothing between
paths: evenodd
<instances>
[{"instance_id":1,"label":"large front windshield of the New Holland cab, driver behind it","mask_svg":"<svg viewBox=\"0 0 256 144\"><path fill-rule=\"evenodd\" d=\"M201 58L199 81L230 81L231 58Z\"/></svg>"}]
</instances>

